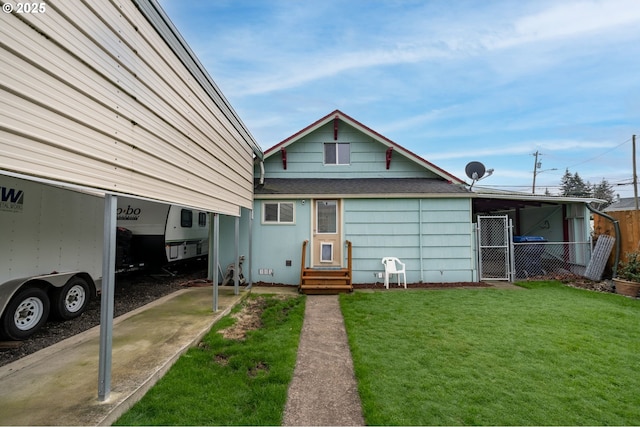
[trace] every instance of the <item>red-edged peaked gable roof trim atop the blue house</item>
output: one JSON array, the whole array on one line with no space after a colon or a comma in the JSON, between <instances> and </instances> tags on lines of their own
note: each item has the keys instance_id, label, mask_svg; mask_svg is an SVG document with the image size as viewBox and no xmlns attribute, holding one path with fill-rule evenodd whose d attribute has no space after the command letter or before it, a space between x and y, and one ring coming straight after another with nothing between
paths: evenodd
<instances>
[{"instance_id":1,"label":"red-edged peaked gable roof trim atop the blue house","mask_svg":"<svg viewBox=\"0 0 640 427\"><path fill-rule=\"evenodd\" d=\"M463 180L457 178L454 175L451 175L449 172L439 168L438 166L436 166L433 163L423 159L422 157L418 156L417 154L412 153L411 151L407 150L406 148L402 147L401 145L391 141L389 138L386 138L385 136L380 135L378 132L370 129L369 127L367 127L365 125L363 125L359 121L357 121L354 118L344 114L340 110L335 110L332 113L327 114L326 116L324 116L320 120L310 124L306 128L304 128L304 129L296 132L295 134L291 135L289 138L285 139L284 141L281 141L281 142L277 143L276 145L274 145L273 147L267 149L264 152L264 158L265 159L269 158L274 153L279 152L281 148L285 148L285 147L293 144L294 142L296 142L300 138L302 138L302 137L310 134L311 132L321 128L322 126L326 125L327 123L330 123L331 121L333 121L336 118L341 120L341 121L343 121L343 122L345 122L345 123L347 123L347 124L349 124L350 126L354 127L355 129L359 130L360 132L368 135L369 137L373 138L374 140L380 142L381 144L383 144L383 145L385 145L387 147L393 147L394 151L397 151L397 152L401 153L402 155L404 155L408 159L413 160L414 162L416 162L420 166L422 166L425 169L429 170L430 172L438 175L439 177L441 177L441 178L443 178L443 179L445 179L447 181L450 181L453 184L464 184Z\"/></svg>"}]
</instances>

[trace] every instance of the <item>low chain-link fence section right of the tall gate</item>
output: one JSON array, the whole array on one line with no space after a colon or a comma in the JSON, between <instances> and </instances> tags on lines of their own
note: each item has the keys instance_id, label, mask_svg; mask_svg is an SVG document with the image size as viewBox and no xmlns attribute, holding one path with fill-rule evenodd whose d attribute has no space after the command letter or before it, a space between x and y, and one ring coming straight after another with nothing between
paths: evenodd
<instances>
[{"instance_id":1,"label":"low chain-link fence section right of the tall gate","mask_svg":"<svg viewBox=\"0 0 640 427\"><path fill-rule=\"evenodd\" d=\"M591 259L590 242L526 242L513 244L516 280L583 276Z\"/></svg>"}]
</instances>

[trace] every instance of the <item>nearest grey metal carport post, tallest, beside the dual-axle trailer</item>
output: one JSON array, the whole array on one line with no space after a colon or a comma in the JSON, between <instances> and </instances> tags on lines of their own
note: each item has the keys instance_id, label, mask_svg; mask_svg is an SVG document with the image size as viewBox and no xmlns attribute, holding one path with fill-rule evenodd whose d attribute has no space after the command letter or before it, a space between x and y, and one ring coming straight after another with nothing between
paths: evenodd
<instances>
[{"instance_id":1,"label":"nearest grey metal carport post, tallest, beside the dual-axle trailer","mask_svg":"<svg viewBox=\"0 0 640 427\"><path fill-rule=\"evenodd\" d=\"M102 249L102 297L100 301L100 354L98 361L98 400L111 393L111 350L113 342L113 294L116 265L116 217L118 198L104 196L104 246Z\"/></svg>"}]
</instances>

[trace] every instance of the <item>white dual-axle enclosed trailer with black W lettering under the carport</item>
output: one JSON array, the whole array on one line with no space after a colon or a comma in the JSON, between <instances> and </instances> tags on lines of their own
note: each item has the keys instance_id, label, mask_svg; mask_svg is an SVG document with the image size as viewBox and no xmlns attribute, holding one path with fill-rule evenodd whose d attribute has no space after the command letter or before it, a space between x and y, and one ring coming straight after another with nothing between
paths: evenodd
<instances>
[{"instance_id":1,"label":"white dual-axle enclosed trailer with black W lettering under the carport","mask_svg":"<svg viewBox=\"0 0 640 427\"><path fill-rule=\"evenodd\" d=\"M72 319L102 279L104 199L0 175L0 335Z\"/></svg>"}]
</instances>

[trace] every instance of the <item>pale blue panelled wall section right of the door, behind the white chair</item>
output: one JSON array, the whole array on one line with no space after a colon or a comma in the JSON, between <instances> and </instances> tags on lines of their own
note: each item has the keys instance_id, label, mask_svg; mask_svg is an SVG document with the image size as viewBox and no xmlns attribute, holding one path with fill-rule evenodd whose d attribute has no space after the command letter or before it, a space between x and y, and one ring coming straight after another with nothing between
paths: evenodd
<instances>
[{"instance_id":1,"label":"pale blue panelled wall section right of the door, behind the white chair","mask_svg":"<svg viewBox=\"0 0 640 427\"><path fill-rule=\"evenodd\" d=\"M406 263L408 282L474 279L469 200L351 199L344 202L344 218L354 283L379 281L375 273L384 270L385 256Z\"/></svg>"}]
</instances>

